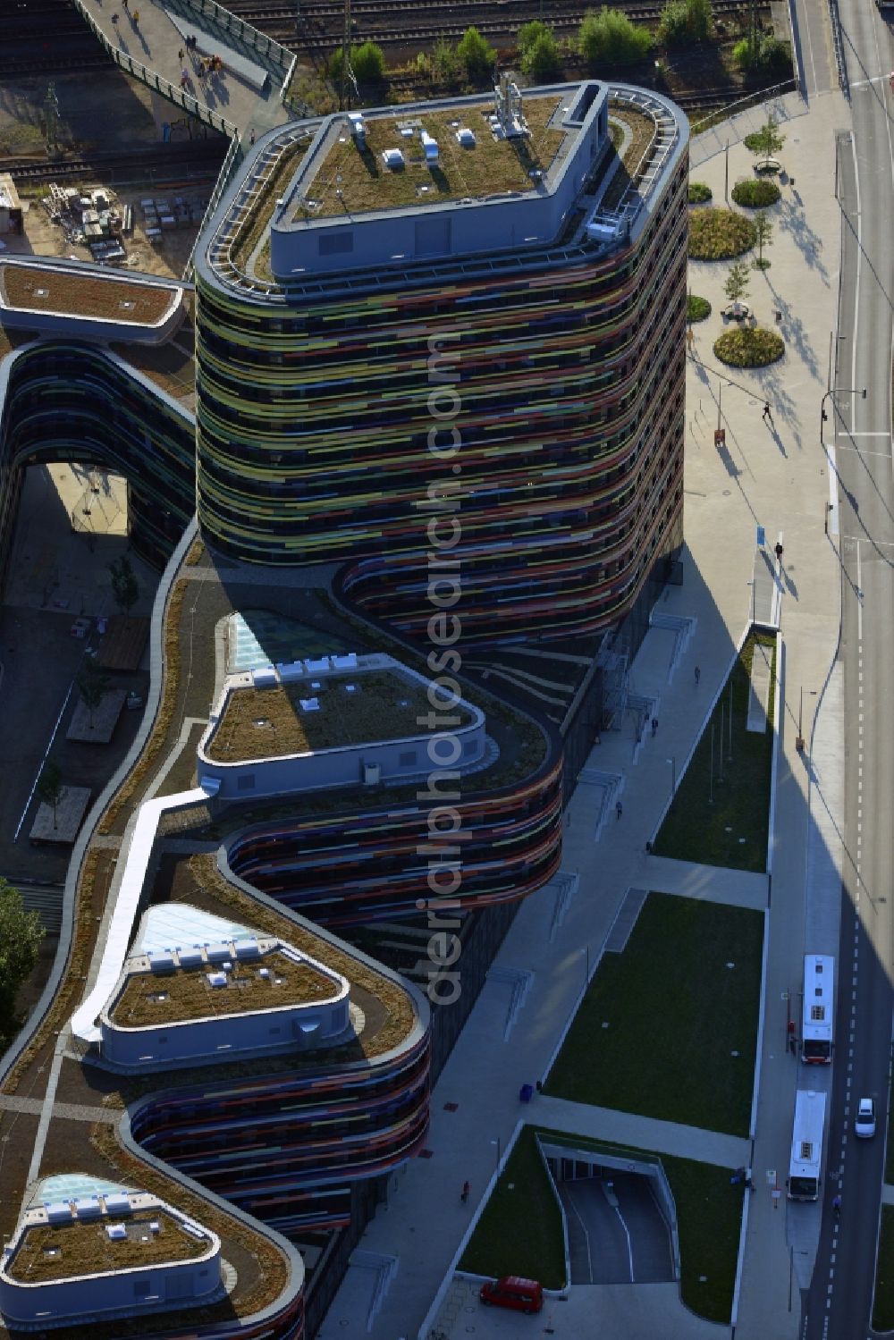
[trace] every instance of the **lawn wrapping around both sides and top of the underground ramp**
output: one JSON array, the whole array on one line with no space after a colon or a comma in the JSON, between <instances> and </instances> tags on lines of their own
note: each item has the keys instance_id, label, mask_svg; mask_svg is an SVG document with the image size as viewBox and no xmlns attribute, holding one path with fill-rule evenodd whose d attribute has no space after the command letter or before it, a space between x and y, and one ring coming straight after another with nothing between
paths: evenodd
<instances>
[{"instance_id":1,"label":"lawn wrapping around both sides and top of the underground ramp","mask_svg":"<svg viewBox=\"0 0 894 1340\"><path fill-rule=\"evenodd\" d=\"M744 1195L740 1186L730 1186L732 1168L607 1140L525 1127L478 1219L460 1269L489 1276L523 1274L540 1280L550 1289L564 1286L562 1217L543 1171L535 1135L559 1144L629 1152L637 1159L661 1163L677 1206L682 1301L709 1321L729 1323Z\"/></svg>"}]
</instances>

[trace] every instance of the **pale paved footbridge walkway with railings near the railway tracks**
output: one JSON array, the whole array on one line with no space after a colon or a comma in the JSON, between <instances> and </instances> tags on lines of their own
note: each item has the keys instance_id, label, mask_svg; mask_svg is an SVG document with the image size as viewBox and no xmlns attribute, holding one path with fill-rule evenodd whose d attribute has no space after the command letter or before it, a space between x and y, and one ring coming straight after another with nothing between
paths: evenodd
<instances>
[{"instance_id":1,"label":"pale paved footbridge walkway with railings near the railway tracks","mask_svg":"<svg viewBox=\"0 0 894 1340\"><path fill-rule=\"evenodd\" d=\"M290 68L283 67L283 60L291 52L280 55L283 48L277 43L249 25L239 25L244 31L240 39L227 31L222 16L216 21L210 13L201 12L201 4L193 9L190 0L129 0L126 9L118 0L74 0L74 4L113 59L155 90L153 102L159 129L172 119L159 95L184 105L186 111L225 130L231 138L239 134L248 139L252 131L260 137L294 118L281 100ZM139 15L138 21L135 15ZM229 15L227 20L233 21ZM186 51L186 38L197 39L196 51ZM269 50L253 47L257 39ZM220 75L201 76L202 54L221 58Z\"/></svg>"}]
</instances>

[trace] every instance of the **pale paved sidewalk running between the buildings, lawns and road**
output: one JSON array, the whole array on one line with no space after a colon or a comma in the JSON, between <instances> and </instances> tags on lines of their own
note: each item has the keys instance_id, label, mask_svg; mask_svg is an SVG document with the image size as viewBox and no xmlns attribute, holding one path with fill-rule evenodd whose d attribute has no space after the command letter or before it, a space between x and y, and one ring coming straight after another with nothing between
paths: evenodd
<instances>
[{"instance_id":1,"label":"pale paved sidewalk running between the buildings, lawns and road","mask_svg":"<svg viewBox=\"0 0 894 1340\"><path fill-rule=\"evenodd\" d=\"M802 109L792 95L792 110ZM755 114L759 122L760 113ZM563 871L578 872L579 890L572 898L555 941L550 939L552 896L532 895L520 909L497 955L500 966L533 973L527 1002L508 1043L503 1029L509 986L488 982L466 1024L432 1097L430 1159L417 1159L402 1170L389 1189L382 1207L369 1226L362 1248L393 1257L397 1277L367 1331L370 1277L348 1270L320 1329L320 1340L395 1340L416 1336L461 1244L474 1210L458 1203L458 1187L469 1178L473 1199L485 1194L497 1162L505 1151L519 1116L540 1119L548 1100L520 1108L519 1088L541 1073L555 1040L579 996L584 951L595 962L626 890L657 887L665 864L649 862L645 843L667 801L672 758L682 764L698 736L705 713L724 682L730 657L751 614L756 525L765 528L771 545L784 532L785 594L781 602L785 679L780 708L780 758L776 796L775 851L771 892L771 950L767 984L767 1020L761 1047L761 1091L757 1139L752 1159L755 1195L751 1197L745 1268L741 1281L737 1340L787 1340L797 1332L797 1298L788 1311L791 1218L784 1195L773 1209L767 1183L768 1170L784 1181L788 1166L791 1112L796 1063L780 1047L784 1038L785 1005L781 992L800 981L804 949L804 902L808 852L808 772L795 752L799 689L804 687L803 733L810 741L814 713L838 638L839 561L824 535L828 481L816 441L819 401L826 389L828 331L835 324L839 214L831 180L832 133L848 121L838 95L818 99L810 114L783 126L788 134L781 158L797 178L799 196L787 188L785 198L771 210L772 268L753 272L748 297L761 324L773 326L773 311L783 310L787 356L767 370L730 373L735 386L724 387L722 419L728 454L713 446L718 375L712 343L724 328L718 315L696 327L696 354L690 360L686 436L686 539L684 584L669 590L659 608L669 615L693 618L696 632L682 661L674 662L673 634L649 632L633 667L637 693L657 694L659 729L638 745L627 724L606 733L592 750L588 765L623 775L623 816L610 815L594 842L592 788L579 785L570 805ZM752 129L751 126L745 126ZM730 130L730 139L735 127ZM693 159L698 157L693 153ZM714 201L722 204L722 153L714 153L693 176L706 181ZM729 149L729 182L751 176L751 154L733 142ZM718 312L724 303L725 264L693 264L692 291L706 296ZM717 368L717 371L714 370ZM765 401L773 406L776 431L761 421ZM701 667L694 683L694 666ZM780 686L777 686L779 689ZM816 690L816 697L810 690ZM832 712L823 721L824 753L835 758L840 746L840 722ZM818 805L822 801L818 797ZM835 804L830 796L830 808ZM831 827L834 832L834 825ZM831 839L830 839L831 840ZM822 844L823 838L819 836ZM814 843L812 850L816 850ZM830 854L834 859L834 854ZM666 872L666 870L665 870ZM739 884L743 876L733 876ZM748 876L741 887L757 895ZM760 879L760 876L757 876ZM686 880L700 888L709 879L704 867L684 868L673 891L685 891ZM661 887L661 884L658 884ZM704 887L704 886L702 886ZM761 895L763 896L763 895ZM460 965L461 966L461 965ZM445 1103L458 1104L453 1112ZM606 1114L594 1110L594 1127ZM627 1132L633 1119L611 1114ZM602 1127L599 1132L602 1134ZM499 1143L497 1143L499 1142ZM797 1206L796 1211L803 1210ZM808 1207L808 1213L819 1210ZM800 1221L804 1221L800 1215ZM800 1248L799 1248L800 1250ZM810 1265L808 1254L802 1265ZM685 1309L681 1308L681 1315ZM464 1321L460 1324L462 1333ZM562 1313L554 1319L563 1336ZM692 1333L698 1333L693 1320ZM676 1329L676 1328L674 1328ZM725 1333L725 1328L716 1328Z\"/></svg>"}]
</instances>

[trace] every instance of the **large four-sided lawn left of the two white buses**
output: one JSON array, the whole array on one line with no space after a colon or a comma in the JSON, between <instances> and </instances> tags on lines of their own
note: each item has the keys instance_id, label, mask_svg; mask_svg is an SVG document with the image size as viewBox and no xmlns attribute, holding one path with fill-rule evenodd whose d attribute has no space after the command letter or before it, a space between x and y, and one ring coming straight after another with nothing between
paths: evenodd
<instances>
[{"instance_id":1,"label":"large four-sided lawn left of the two white buses","mask_svg":"<svg viewBox=\"0 0 894 1340\"><path fill-rule=\"evenodd\" d=\"M763 930L747 907L649 894L623 954L603 955L547 1092L747 1136Z\"/></svg>"}]
</instances>

